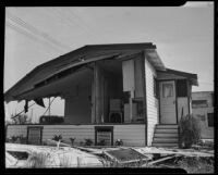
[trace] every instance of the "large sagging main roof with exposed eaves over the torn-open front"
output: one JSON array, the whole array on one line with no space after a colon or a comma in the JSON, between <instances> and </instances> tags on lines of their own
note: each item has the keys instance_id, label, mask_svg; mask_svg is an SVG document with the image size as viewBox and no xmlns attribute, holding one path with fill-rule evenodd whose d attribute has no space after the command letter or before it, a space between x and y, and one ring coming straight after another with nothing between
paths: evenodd
<instances>
[{"instance_id":1,"label":"large sagging main roof with exposed eaves over the torn-open front","mask_svg":"<svg viewBox=\"0 0 218 175\"><path fill-rule=\"evenodd\" d=\"M24 100L27 93L29 99L31 92L37 88L71 75L88 63L105 59L130 59L143 52L156 70L165 71L165 65L156 52L156 46L152 42L85 46L34 68L4 93L4 100L5 102Z\"/></svg>"}]
</instances>

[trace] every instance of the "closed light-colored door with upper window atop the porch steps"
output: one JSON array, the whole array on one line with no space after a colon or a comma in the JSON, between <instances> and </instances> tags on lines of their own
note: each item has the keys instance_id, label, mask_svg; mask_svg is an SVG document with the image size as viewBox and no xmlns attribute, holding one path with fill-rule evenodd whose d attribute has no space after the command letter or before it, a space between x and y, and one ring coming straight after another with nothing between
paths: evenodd
<instances>
[{"instance_id":1,"label":"closed light-colored door with upper window atop the porch steps","mask_svg":"<svg viewBox=\"0 0 218 175\"><path fill-rule=\"evenodd\" d=\"M177 124L174 80L160 82L160 124Z\"/></svg>"}]
</instances>

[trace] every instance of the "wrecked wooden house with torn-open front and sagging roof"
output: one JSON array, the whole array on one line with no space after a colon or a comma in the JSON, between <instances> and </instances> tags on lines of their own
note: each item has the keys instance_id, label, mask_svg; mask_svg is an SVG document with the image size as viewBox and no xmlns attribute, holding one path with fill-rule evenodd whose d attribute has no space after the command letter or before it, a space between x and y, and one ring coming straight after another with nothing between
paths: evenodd
<instances>
[{"instance_id":1,"label":"wrecked wooden house with torn-open front and sagging roof","mask_svg":"<svg viewBox=\"0 0 218 175\"><path fill-rule=\"evenodd\" d=\"M75 143L178 146L178 122L191 113L197 84L196 74L166 67L152 42L85 46L38 65L4 95L26 109L61 97L64 123L10 125L7 134L39 143L61 134Z\"/></svg>"}]
</instances>

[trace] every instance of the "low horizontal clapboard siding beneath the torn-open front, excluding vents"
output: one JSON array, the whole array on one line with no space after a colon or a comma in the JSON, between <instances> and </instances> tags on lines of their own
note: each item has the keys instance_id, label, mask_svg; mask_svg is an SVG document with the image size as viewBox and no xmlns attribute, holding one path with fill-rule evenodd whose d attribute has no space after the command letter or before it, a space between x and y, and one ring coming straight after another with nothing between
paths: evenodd
<instances>
[{"instance_id":1,"label":"low horizontal clapboard siding beneath the torn-open front, excluding vents","mask_svg":"<svg viewBox=\"0 0 218 175\"><path fill-rule=\"evenodd\" d=\"M145 124L136 125L31 125L44 126L43 141L61 135L64 142L70 143L70 138L76 138L75 143L84 139L95 140L95 126L113 126L113 142L122 139L124 146L145 146ZM9 125L7 137L27 135L27 125Z\"/></svg>"}]
</instances>

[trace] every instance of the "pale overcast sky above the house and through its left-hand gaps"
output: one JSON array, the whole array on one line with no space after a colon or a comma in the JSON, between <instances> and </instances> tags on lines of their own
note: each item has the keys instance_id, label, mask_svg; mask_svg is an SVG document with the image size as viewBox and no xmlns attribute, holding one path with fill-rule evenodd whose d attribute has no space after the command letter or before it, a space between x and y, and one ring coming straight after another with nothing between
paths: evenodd
<instances>
[{"instance_id":1,"label":"pale overcast sky above the house and through its left-hand gaps","mask_svg":"<svg viewBox=\"0 0 218 175\"><path fill-rule=\"evenodd\" d=\"M165 65L214 90L214 4L178 8L7 8L4 92L37 65L84 45L153 42ZM61 108L60 108L61 107ZM10 102L7 112L20 112ZM46 109L34 108L34 116ZM52 114L63 115L55 100Z\"/></svg>"}]
</instances>

